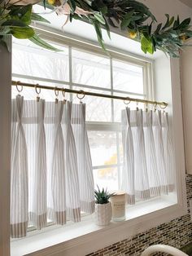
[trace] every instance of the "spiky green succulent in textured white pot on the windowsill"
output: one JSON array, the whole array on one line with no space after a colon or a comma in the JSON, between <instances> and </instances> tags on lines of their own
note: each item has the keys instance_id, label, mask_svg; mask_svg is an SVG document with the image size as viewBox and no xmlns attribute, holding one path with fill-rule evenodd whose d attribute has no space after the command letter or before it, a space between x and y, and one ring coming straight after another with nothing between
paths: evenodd
<instances>
[{"instance_id":1,"label":"spiky green succulent in textured white pot on the windowsill","mask_svg":"<svg viewBox=\"0 0 192 256\"><path fill-rule=\"evenodd\" d=\"M112 209L109 198L113 196L104 188L94 190L95 197L95 222L99 226L107 226L111 221Z\"/></svg>"}]
</instances>

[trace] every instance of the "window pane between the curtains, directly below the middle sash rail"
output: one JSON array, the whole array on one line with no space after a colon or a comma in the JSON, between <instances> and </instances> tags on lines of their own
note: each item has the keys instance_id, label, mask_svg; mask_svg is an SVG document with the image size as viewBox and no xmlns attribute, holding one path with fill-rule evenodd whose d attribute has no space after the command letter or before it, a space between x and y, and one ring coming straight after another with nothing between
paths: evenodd
<instances>
[{"instance_id":1,"label":"window pane between the curtains, directly below the middle sash rail","mask_svg":"<svg viewBox=\"0 0 192 256\"><path fill-rule=\"evenodd\" d=\"M117 163L116 132L89 130L88 137L93 166Z\"/></svg>"}]
</instances>

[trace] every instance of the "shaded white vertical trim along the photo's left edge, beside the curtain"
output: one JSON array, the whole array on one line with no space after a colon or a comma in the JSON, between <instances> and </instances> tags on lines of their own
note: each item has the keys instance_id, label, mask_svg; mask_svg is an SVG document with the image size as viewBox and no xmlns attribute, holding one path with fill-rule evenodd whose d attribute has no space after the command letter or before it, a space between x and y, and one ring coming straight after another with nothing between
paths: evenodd
<instances>
[{"instance_id":1,"label":"shaded white vertical trim along the photo's left edge, beside the curtain","mask_svg":"<svg viewBox=\"0 0 192 256\"><path fill-rule=\"evenodd\" d=\"M7 38L11 45L11 37ZM10 47L11 48L11 47ZM11 53L0 45L0 255L10 255Z\"/></svg>"}]
</instances>

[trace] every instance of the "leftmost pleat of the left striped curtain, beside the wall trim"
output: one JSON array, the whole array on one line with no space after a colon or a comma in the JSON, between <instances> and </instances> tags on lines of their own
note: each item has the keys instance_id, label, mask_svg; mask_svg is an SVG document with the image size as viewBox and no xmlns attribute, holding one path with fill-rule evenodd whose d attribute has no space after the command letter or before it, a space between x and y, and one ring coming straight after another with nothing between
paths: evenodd
<instances>
[{"instance_id":1,"label":"leftmost pleat of the left striped curtain, beside the wall trim","mask_svg":"<svg viewBox=\"0 0 192 256\"><path fill-rule=\"evenodd\" d=\"M28 227L28 157L22 125L24 98L12 100L11 236L26 236Z\"/></svg>"}]
</instances>

